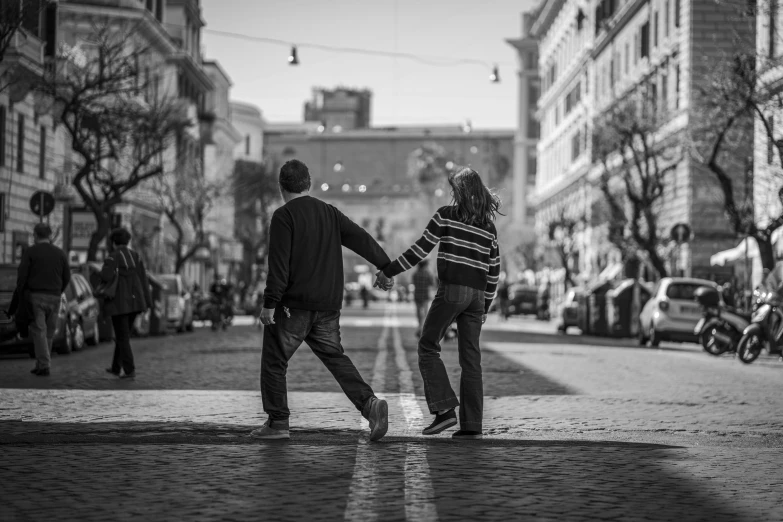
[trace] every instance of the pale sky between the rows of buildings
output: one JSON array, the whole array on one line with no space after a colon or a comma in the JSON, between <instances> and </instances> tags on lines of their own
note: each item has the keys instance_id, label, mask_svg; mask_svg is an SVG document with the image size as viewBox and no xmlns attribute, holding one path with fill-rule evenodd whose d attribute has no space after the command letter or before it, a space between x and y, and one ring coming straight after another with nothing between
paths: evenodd
<instances>
[{"instance_id":1,"label":"pale sky between the rows of buildings","mask_svg":"<svg viewBox=\"0 0 783 522\"><path fill-rule=\"evenodd\" d=\"M258 106L271 122L302 121L313 87L373 92L372 125L460 124L514 128L516 52L533 0L202 0L205 57L231 77L231 98ZM229 31L299 44L290 47L210 33ZM470 59L483 65L434 66L404 58L335 53L320 44L423 56L436 63ZM445 60L444 60L445 59ZM500 83L491 83L497 64Z\"/></svg>"}]
</instances>

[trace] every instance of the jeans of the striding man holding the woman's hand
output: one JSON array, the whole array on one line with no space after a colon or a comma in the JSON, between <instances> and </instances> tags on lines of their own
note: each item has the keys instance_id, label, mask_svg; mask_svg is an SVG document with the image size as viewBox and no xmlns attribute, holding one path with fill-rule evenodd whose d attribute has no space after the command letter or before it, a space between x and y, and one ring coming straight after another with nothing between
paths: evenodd
<instances>
[{"instance_id":1,"label":"jeans of the striding man holding the woman's hand","mask_svg":"<svg viewBox=\"0 0 783 522\"><path fill-rule=\"evenodd\" d=\"M364 382L359 370L345 355L340 343L340 312L289 309L287 317L282 306L275 310L275 324L264 327L264 347L261 351L261 399L269 415L270 426L288 429L288 361L302 342L321 359L332 372L345 395L357 410L367 417L364 406L375 394Z\"/></svg>"}]
</instances>

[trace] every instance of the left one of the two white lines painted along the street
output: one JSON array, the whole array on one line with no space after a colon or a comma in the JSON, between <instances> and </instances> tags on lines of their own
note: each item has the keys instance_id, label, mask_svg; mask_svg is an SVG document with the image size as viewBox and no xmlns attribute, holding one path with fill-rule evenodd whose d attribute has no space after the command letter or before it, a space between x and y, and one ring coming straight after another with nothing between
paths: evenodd
<instances>
[{"instance_id":1,"label":"left one of the two white lines painted along the street","mask_svg":"<svg viewBox=\"0 0 783 522\"><path fill-rule=\"evenodd\" d=\"M391 310L387 308L383 321L383 329L378 338L378 355L372 372L372 389L378 393L386 387L386 360L388 359L388 341ZM363 430L367 421L359 418L359 426ZM351 489L348 502L345 505L345 520L363 522L378 520L378 477L377 459L367 445L367 437L362 434L356 446L356 460L353 466Z\"/></svg>"}]
</instances>

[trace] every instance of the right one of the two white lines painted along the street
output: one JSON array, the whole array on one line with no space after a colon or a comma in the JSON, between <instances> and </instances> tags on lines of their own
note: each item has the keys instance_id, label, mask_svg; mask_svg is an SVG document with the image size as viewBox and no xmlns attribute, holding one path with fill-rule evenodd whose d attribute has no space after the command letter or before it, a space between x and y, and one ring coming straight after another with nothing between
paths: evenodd
<instances>
[{"instance_id":1,"label":"right one of the two white lines painted along the street","mask_svg":"<svg viewBox=\"0 0 783 522\"><path fill-rule=\"evenodd\" d=\"M394 316L396 319L396 306ZM392 328L394 361L397 364L400 384L400 406L408 429L420 428L423 424L419 403L413 388L413 377L405 349L402 347L400 329L397 323ZM405 520L408 522L437 521L435 491L430 480L430 466L427 462L427 447L421 444L406 444L405 453Z\"/></svg>"}]
</instances>

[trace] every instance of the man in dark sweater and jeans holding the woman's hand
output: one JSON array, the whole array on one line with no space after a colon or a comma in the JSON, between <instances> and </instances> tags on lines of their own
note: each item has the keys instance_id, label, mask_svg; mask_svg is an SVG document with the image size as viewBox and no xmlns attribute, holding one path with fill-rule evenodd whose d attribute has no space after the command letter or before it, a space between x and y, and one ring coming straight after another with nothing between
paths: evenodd
<instances>
[{"instance_id":1,"label":"man in dark sweater and jeans holding the woman's hand","mask_svg":"<svg viewBox=\"0 0 783 522\"><path fill-rule=\"evenodd\" d=\"M289 438L286 371L289 359L305 342L369 420L370 440L378 440L388 429L388 405L375 397L340 343L342 247L378 269L391 261L364 229L332 205L310 197L310 172L304 163L286 162L279 184L285 204L270 224L269 273L261 310L261 397L269 418L251 435Z\"/></svg>"}]
</instances>

